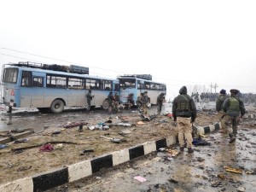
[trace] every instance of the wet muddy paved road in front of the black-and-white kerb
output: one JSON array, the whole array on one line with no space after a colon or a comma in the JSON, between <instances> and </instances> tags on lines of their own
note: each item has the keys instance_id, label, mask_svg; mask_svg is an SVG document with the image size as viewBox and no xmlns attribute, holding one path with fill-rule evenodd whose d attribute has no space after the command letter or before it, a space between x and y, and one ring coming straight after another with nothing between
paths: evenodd
<instances>
[{"instance_id":1,"label":"wet muddy paved road in front of the black-and-white kerb","mask_svg":"<svg viewBox=\"0 0 256 192\"><path fill-rule=\"evenodd\" d=\"M255 129L243 128L236 143L229 144L227 134L214 133L205 138L211 145L195 147L194 154L184 151L166 160L166 153L156 152L49 191L256 191L255 136ZM224 166L242 173L226 172Z\"/></svg>"}]
</instances>

